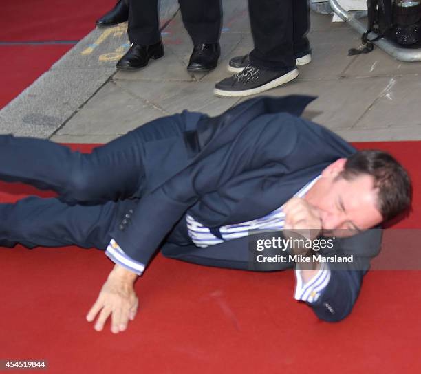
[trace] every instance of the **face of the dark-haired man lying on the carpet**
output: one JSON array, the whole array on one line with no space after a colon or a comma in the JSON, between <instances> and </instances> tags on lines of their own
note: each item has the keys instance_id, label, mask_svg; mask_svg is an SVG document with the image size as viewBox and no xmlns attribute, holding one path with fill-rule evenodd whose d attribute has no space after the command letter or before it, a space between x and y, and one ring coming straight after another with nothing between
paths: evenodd
<instances>
[{"instance_id":1,"label":"face of the dark-haired man lying on the carpet","mask_svg":"<svg viewBox=\"0 0 421 374\"><path fill-rule=\"evenodd\" d=\"M382 222L373 178L360 175L347 181L338 177L345 162L338 159L325 168L305 195L305 200L319 210L325 236L350 236Z\"/></svg>"}]
</instances>

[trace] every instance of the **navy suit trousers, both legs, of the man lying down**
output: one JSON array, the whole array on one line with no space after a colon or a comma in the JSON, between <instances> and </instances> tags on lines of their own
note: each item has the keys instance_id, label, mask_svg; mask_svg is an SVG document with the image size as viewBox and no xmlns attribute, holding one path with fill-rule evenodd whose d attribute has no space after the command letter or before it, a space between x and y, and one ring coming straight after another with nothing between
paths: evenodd
<instances>
[{"instance_id":1,"label":"navy suit trousers, both legs, of the man lying down","mask_svg":"<svg viewBox=\"0 0 421 374\"><path fill-rule=\"evenodd\" d=\"M0 203L0 245L107 248L126 203L144 193L145 144L180 139L186 126L191 124L182 114L159 118L90 154L49 140L0 135L0 179L58 195Z\"/></svg>"}]
</instances>

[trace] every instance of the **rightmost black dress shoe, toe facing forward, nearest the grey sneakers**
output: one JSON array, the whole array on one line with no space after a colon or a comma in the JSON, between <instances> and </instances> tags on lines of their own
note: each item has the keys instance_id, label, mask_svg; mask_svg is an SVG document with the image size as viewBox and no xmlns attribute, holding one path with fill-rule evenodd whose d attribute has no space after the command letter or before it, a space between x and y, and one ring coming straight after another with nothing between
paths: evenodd
<instances>
[{"instance_id":1,"label":"rightmost black dress shoe, toe facing forward, nearest the grey sneakers","mask_svg":"<svg viewBox=\"0 0 421 374\"><path fill-rule=\"evenodd\" d=\"M219 43L202 43L195 45L188 62L187 70L191 73L206 73L215 69L221 54Z\"/></svg>"}]
</instances>

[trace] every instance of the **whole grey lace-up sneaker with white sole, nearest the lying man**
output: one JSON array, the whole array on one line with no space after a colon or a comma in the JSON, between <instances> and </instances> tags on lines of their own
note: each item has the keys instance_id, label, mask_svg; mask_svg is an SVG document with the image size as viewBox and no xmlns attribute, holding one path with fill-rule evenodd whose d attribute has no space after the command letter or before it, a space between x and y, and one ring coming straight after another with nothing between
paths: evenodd
<instances>
[{"instance_id":1,"label":"whole grey lace-up sneaker with white sole, nearest the lying man","mask_svg":"<svg viewBox=\"0 0 421 374\"><path fill-rule=\"evenodd\" d=\"M213 93L216 96L224 97L259 94L259 92L290 82L298 74L296 67L281 72L273 72L249 64L241 72L217 83Z\"/></svg>"}]
</instances>

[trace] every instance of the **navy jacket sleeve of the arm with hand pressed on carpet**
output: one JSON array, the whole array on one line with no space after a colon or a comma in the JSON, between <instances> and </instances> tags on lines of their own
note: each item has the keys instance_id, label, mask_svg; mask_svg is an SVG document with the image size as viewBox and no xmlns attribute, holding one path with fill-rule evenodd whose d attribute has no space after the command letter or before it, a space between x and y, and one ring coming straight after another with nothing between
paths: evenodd
<instances>
[{"instance_id":1,"label":"navy jacket sleeve of the arm with hand pressed on carpet","mask_svg":"<svg viewBox=\"0 0 421 374\"><path fill-rule=\"evenodd\" d=\"M248 170L282 162L292 153L297 138L294 122L299 118L285 113L280 125L279 118L274 122L273 117L262 117L244 124L234 142L223 146L214 142L206 157L197 157L138 201L131 224L110 233L127 256L147 265L166 234L203 195Z\"/></svg>"}]
</instances>

